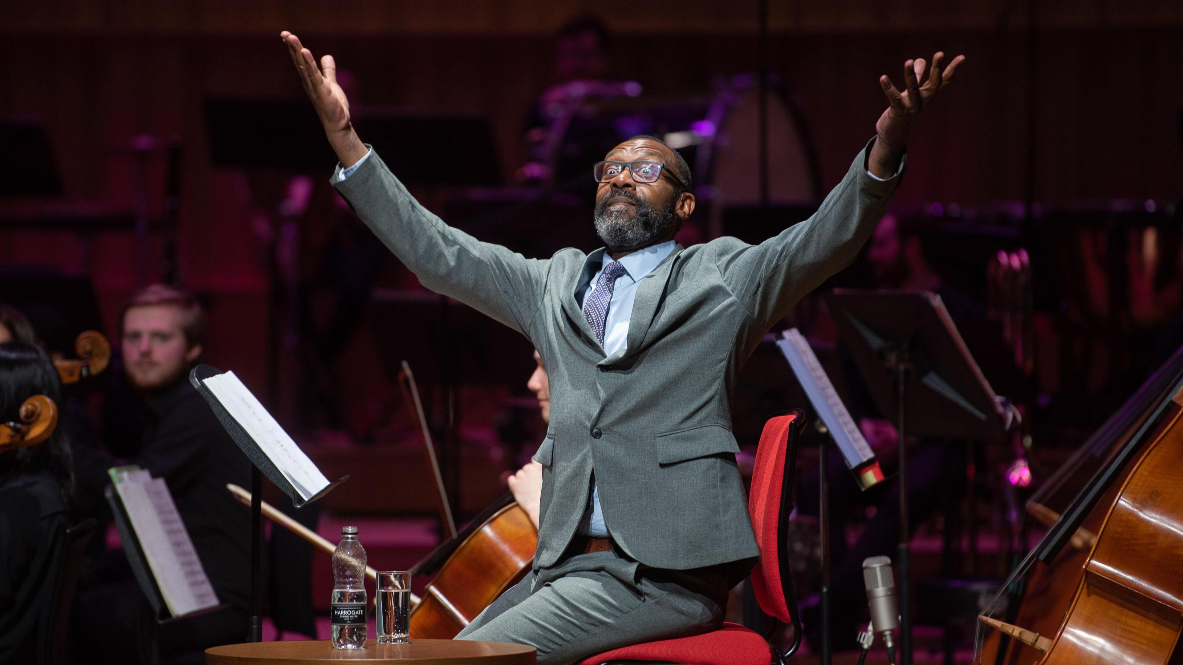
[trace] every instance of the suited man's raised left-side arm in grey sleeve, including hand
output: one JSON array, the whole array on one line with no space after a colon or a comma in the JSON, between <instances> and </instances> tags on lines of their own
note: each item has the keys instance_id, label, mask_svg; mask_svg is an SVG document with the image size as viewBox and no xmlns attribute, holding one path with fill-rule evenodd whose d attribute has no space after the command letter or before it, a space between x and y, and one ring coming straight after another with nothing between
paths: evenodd
<instances>
[{"instance_id":1,"label":"suited man's raised left-side arm in grey sleeve, including hand","mask_svg":"<svg viewBox=\"0 0 1183 665\"><path fill-rule=\"evenodd\" d=\"M550 262L481 243L422 207L354 131L332 56L317 67L295 34L284 31L280 38L341 161L332 183L362 221L425 286L529 335Z\"/></svg>"}]
</instances>

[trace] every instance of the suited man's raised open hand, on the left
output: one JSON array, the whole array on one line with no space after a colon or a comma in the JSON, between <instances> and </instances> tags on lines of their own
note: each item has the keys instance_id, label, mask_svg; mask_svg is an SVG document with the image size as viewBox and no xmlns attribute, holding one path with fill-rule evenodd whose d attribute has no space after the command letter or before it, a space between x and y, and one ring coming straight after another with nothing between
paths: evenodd
<instances>
[{"instance_id":1,"label":"suited man's raised open hand, on the left","mask_svg":"<svg viewBox=\"0 0 1183 665\"><path fill-rule=\"evenodd\" d=\"M349 122L349 99L345 98L345 91L337 85L336 62L332 56L324 56L321 58L321 66L317 67L312 52L299 43L298 37L285 30L279 33L279 38L287 46L287 54L296 65L304 92L312 101L316 115L321 118L324 133L336 150L341 164L353 166L366 156L367 148L357 138Z\"/></svg>"}]
</instances>

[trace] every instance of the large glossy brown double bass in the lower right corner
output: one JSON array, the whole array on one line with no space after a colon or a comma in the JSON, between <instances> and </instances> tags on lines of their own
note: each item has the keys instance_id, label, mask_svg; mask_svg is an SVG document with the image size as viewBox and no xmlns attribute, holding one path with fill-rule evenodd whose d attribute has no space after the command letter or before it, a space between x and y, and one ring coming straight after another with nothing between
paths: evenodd
<instances>
[{"instance_id":1,"label":"large glossy brown double bass in the lower right corner","mask_svg":"<svg viewBox=\"0 0 1183 665\"><path fill-rule=\"evenodd\" d=\"M1088 466L1085 458L1108 452L1003 587L1030 573L1009 621L982 616L998 631L984 645L980 634L977 661L1140 664L1171 657L1183 624L1183 577L1177 574L1183 489L1171 482L1175 465L1183 463L1181 354L1098 431L1101 438L1082 446L1082 454L1066 465L1068 473L1059 474L1079 474ZM1148 398L1151 408L1138 408ZM1064 482L1061 477L1053 490ZM1002 606L1001 596L985 614Z\"/></svg>"}]
</instances>

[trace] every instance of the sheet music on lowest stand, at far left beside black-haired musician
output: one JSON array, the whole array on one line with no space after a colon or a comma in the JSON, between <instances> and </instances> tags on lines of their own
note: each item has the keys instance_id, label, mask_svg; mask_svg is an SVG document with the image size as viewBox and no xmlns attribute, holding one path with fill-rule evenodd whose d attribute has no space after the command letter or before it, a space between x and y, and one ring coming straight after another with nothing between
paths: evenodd
<instances>
[{"instance_id":1,"label":"sheet music on lowest stand, at far left beside black-haired musician","mask_svg":"<svg viewBox=\"0 0 1183 665\"><path fill-rule=\"evenodd\" d=\"M147 471L142 472L148 474ZM176 511L173 496L163 478L142 479L140 473L124 473L115 490L128 512L128 519L143 549L164 605L173 616L214 607L218 595L209 585L185 522Z\"/></svg>"}]
</instances>

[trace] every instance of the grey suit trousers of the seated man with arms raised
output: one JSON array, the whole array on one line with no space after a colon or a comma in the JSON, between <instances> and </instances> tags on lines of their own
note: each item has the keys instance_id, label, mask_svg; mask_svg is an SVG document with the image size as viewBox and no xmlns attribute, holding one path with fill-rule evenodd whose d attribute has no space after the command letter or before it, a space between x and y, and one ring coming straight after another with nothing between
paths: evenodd
<instances>
[{"instance_id":1,"label":"grey suit trousers of the seated man with arms raised","mask_svg":"<svg viewBox=\"0 0 1183 665\"><path fill-rule=\"evenodd\" d=\"M717 628L728 589L719 566L664 570L616 550L580 554L528 573L455 639L530 645L538 650L538 665L564 665Z\"/></svg>"}]
</instances>

